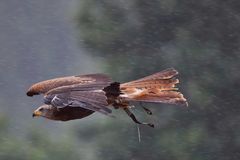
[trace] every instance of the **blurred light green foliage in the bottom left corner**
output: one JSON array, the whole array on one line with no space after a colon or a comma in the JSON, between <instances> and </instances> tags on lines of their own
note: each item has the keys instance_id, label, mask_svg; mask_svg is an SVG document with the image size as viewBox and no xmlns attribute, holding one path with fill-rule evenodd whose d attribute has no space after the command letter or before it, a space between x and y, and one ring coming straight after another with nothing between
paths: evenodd
<instances>
[{"instance_id":1,"label":"blurred light green foliage in the bottom left corner","mask_svg":"<svg viewBox=\"0 0 240 160\"><path fill-rule=\"evenodd\" d=\"M59 139L55 142L43 130L37 128L29 130L26 138L17 138L8 131L6 123L7 119L1 116L1 160L80 159L76 146L69 139Z\"/></svg>"}]
</instances>

